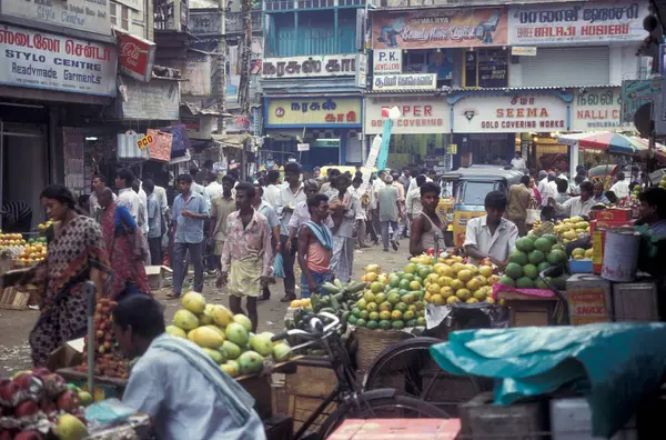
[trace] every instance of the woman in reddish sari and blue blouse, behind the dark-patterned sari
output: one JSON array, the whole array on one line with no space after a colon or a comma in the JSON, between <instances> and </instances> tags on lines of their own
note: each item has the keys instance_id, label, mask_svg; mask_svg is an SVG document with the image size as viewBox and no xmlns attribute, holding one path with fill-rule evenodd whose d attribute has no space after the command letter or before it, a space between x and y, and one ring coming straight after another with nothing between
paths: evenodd
<instances>
[{"instance_id":1,"label":"woman in reddish sari and blue blouse, behind the dark-patterned sari","mask_svg":"<svg viewBox=\"0 0 666 440\"><path fill-rule=\"evenodd\" d=\"M100 207L99 222L104 236L107 252L111 269L113 269L113 283L110 297L114 301L135 294L150 294L148 276L143 267L144 252L142 249L141 231L125 207L120 207L113 201L113 192L104 188L98 194Z\"/></svg>"}]
</instances>

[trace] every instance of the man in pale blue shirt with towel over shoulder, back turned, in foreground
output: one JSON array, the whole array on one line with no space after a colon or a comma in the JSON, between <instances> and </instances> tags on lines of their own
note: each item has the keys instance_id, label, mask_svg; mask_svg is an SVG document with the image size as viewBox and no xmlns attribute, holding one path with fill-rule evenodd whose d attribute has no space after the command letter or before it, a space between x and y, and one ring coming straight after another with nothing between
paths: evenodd
<instances>
[{"instance_id":1,"label":"man in pale blue shirt with towel over shoulder, back turned, in foreground","mask_svg":"<svg viewBox=\"0 0 666 440\"><path fill-rule=\"evenodd\" d=\"M165 333L162 306L140 294L113 310L121 350L139 358L122 401L149 414L161 440L265 439L254 399L205 351Z\"/></svg>"}]
</instances>

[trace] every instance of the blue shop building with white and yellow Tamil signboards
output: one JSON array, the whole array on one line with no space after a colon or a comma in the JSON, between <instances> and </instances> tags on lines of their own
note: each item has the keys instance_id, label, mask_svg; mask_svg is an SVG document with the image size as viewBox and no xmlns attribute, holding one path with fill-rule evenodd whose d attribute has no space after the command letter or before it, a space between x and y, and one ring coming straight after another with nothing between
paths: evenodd
<instances>
[{"instance_id":1,"label":"blue shop building with white and yellow Tamil signboards","mask_svg":"<svg viewBox=\"0 0 666 440\"><path fill-rule=\"evenodd\" d=\"M309 170L363 161L364 7L264 0L260 164L295 158Z\"/></svg>"}]
</instances>

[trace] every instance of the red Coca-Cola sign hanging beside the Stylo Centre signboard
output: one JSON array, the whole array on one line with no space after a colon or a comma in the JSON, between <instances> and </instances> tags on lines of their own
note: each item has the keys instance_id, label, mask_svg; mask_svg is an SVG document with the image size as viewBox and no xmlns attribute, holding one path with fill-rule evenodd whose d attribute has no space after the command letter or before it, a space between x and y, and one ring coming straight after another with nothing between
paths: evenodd
<instances>
[{"instance_id":1,"label":"red Coca-Cola sign hanging beside the Stylo Centre signboard","mask_svg":"<svg viewBox=\"0 0 666 440\"><path fill-rule=\"evenodd\" d=\"M155 43L129 33L115 32L118 67L128 77L148 82L155 58Z\"/></svg>"}]
</instances>

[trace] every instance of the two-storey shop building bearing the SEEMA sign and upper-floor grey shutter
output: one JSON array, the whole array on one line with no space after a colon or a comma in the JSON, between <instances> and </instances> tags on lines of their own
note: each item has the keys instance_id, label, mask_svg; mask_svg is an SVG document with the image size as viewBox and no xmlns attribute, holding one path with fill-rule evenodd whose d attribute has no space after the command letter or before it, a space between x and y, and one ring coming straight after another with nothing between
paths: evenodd
<instances>
[{"instance_id":1,"label":"two-storey shop building bearing the SEEMA sign and upper-floor grey shutter","mask_svg":"<svg viewBox=\"0 0 666 440\"><path fill-rule=\"evenodd\" d=\"M445 101L454 168L508 163L514 151L531 168L571 164L558 133L626 128L618 91L639 74L647 1L490 3L380 2L370 13L372 93L430 90Z\"/></svg>"}]
</instances>

